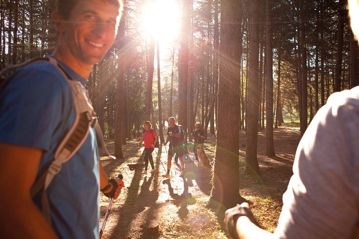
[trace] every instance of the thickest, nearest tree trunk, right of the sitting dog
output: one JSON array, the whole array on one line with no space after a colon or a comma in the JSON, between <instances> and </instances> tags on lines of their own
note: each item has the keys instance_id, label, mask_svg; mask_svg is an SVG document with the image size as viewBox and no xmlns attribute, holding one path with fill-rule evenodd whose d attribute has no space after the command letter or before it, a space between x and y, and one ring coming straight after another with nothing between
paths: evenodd
<instances>
[{"instance_id":1,"label":"thickest, nearest tree trunk, right of the sitting dog","mask_svg":"<svg viewBox=\"0 0 359 239\"><path fill-rule=\"evenodd\" d=\"M240 0L221 2L217 145L210 200L226 208L243 202L239 194ZM257 111L258 112L258 111ZM230 136L229 136L230 135Z\"/></svg>"}]
</instances>

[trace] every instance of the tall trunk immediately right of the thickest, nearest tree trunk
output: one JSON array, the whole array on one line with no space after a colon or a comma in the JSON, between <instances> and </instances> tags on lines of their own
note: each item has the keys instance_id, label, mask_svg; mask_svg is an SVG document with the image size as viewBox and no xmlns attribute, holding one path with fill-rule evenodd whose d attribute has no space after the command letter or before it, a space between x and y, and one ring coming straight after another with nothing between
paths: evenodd
<instances>
[{"instance_id":1,"label":"tall trunk immediately right of the thickest, nearest tree trunk","mask_svg":"<svg viewBox=\"0 0 359 239\"><path fill-rule=\"evenodd\" d=\"M247 151L248 170L260 174L257 160L258 112L259 112L259 0L250 1L249 20L249 72L247 96Z\"/></svg>"}]
</instances>

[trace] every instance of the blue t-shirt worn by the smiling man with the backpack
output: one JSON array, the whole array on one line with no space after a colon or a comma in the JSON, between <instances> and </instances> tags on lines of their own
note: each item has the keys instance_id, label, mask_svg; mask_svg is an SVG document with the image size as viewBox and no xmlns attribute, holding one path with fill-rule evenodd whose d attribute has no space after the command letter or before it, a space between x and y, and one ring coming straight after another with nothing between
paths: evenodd
<instances>
[{"instance_id":1,"label":"blue t-shirt worn by the smiling man with the backpack","mask_svg":"<svg viewBox=\"0 0 359 239\"><path fill-rule=\"evenodd\" d=\"M61 64L73 80L86 84ZM5 84L0 92L0 142L42 149L39 177L75 119L70 86L48 62L23 67ZM98 164L95 132L90 129L85 143L62 165L47 189L52 227L61 238L98 238ZM40 198L34 202L41 208Z\"/></svg>"}]
</instances>

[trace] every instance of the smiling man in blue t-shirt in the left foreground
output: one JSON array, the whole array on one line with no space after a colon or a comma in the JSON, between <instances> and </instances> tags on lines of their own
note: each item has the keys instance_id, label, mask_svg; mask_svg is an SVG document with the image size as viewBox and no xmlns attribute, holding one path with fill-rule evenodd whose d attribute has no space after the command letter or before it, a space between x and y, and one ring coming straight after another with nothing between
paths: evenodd
<instances>
[{"instance_id":1,"label":"smiling man in blue t-shirt in the left foreground","mask_svg":"<svg viewBox=\"0 0 359 239\"><path fill-rule=\"evenodd\" d=\"M58 0L52 20L59 32L51 56L85 86L92 65L110 49L121 17L120 0ZM49 167L70 130L75 109L64 73L49 62L27 65L0 93L0 189L3 238L97 239L99 192L117 198L123 181L109 180L98 160L95 132L62 165L47 188L51 225L33 183Z\"/></svg>"}]
</instances>

